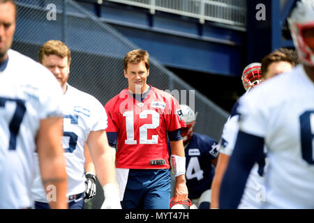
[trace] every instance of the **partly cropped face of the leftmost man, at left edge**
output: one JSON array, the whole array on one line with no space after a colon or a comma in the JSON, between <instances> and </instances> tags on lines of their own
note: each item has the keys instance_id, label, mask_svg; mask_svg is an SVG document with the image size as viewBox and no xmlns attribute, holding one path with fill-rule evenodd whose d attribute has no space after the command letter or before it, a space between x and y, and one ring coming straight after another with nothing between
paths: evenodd
<instances>
[{"instance_id":1,"label":"partly cropped face of the leftmost man, at left edge","mask_svg":"<svg viewBox=\"0 0 314 223\"><path fill-rule=\"evenodd\" d=\"M0 62L7 59L7 52L13 42L15 32L15 6L13 3L0 3Z\"/></svg>"}]
</instances>

